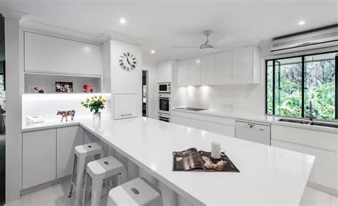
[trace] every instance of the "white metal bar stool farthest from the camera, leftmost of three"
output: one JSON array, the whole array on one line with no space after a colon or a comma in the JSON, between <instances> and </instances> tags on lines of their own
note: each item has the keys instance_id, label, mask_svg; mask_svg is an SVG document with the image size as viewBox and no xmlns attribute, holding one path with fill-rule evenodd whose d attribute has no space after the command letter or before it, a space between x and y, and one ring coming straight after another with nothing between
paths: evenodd
<instances>
[{"instance_id":1,"label":"white metal bar stool farthest from the camera, leftmost of three","mask_svg":"<svg viewBox=\"0 0 338 206\"><path fill-rule=\"evenodd\" d=\"M74 148L73 172L71 175L71 191L68 197L73 195L73 189L76 192L75 205L78 206L80 200L81 188L83 185L83 173L85 171L86 159L93 157L96 160L103 158L103 148L98 143L89 143L86 145L79 145Z\"/></svg>"}]
</instances>

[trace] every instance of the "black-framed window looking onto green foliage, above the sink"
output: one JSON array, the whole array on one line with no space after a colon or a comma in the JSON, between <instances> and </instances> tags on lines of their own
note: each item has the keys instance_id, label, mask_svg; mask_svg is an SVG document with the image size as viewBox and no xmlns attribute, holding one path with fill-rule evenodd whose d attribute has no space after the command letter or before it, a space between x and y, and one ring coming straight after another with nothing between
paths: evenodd
<instances>
[{"instance_id":1,"label":"black-framed window looking onto green foliage, above the sink","mask_svg":"<svg viewBox=\"0 0 338 206\"><path fill-rule=\"evenodd\" d=\"M265 113L320 120L338 119L338 51L267 60L265 63ZM336 104L337 103L337 104Z\"/></svg>"}]
</instances>

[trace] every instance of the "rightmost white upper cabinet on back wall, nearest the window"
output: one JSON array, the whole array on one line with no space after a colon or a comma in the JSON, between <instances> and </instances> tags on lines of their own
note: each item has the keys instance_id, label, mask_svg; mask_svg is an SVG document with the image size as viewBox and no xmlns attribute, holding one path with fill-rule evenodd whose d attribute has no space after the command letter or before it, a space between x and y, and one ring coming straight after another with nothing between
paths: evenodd
<instances>
[{"instance_id":1,"label":"rightmost white upper cabinet on back wall, nearest the window","mask_svg":"<svg viewBox=\"0 0 338 206\"><path fill-rule=\"evenodd\" d=\"M232 51L232 84L260 83L260 50L257 46Z\"/></svg>"}]
</instances>

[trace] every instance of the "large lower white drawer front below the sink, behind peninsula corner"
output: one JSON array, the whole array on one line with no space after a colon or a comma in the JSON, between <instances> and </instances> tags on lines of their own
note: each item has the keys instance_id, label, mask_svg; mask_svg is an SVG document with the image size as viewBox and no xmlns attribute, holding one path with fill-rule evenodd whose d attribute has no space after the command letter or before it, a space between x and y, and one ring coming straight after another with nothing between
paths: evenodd
<instances>
[{"instance_id":1,"label":"large lower white drawer front below the sink, behind peninsula corner","mask_svg":"<svg viewBox=\"0 0 338 206\"><path fill-rule=\"evenodd\" d=\"M311 148L306 145L286 143L280 140L271 140L271 145L277 148L314 155L316 159L314 160L309 181L338 191L338 153Z\"/></svg>"}]
</instances>

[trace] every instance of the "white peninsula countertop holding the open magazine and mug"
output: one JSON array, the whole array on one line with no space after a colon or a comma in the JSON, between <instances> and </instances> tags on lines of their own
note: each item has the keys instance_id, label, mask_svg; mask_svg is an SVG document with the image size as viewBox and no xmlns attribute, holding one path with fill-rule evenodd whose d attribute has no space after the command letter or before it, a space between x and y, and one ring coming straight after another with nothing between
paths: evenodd
<instances>
[{"instance_id":1,"label":"white peninsula countertop holding the open magazine and mug","mask_svg":"<svg viewBox=\"0 0 338 206\"><path fill-rule=\"evenodd\" d=\"M54 123L31 125L23 131L79 124L175 192L201 205L298 205L314 163L312 155L151 118ZM221 143L240 172L172 171L173 151L208 151L212 141Z\"/></svg>"}]
</instances>

